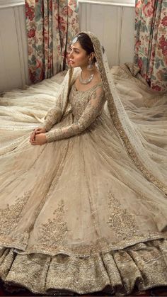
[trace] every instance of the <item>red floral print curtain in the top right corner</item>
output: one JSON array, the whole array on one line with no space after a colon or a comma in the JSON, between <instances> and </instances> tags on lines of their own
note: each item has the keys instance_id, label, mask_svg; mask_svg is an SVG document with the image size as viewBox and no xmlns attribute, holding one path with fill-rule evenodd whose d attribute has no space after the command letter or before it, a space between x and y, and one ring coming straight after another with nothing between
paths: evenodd
<instances>
[{"instance_id":1,"label":"red floral print curtain in the top right corner","mask_svg":"<svg viewBox=\"0 0 167 297\"><path fill-rule=\"evenodd\" d=\"M134 62L151 89L167 91L167 0L136 0Z\"/></svg>"}]
</instances>

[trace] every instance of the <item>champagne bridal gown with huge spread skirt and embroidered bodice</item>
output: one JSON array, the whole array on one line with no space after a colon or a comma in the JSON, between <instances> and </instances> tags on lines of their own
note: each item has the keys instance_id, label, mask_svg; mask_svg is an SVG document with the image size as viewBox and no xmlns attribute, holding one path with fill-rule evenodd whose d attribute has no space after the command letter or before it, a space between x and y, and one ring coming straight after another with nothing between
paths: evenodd
<instances>
[{"instance_id":1,"label":"champagne bridal gown with huge spread skirt and embroidered bodice","mask_svg":"<svg viewBox=\"0 0 167 297\"><path fill-rule=\"evenodd\" d=\"M1 279L8 288L40 294L126 295L134 286L166 286L167 198L129 158L101 84L88 91L73 84L68 113L47 133L49 143L30 145L31 131L54 106L61 75L0 99ZM161 143L165 157L166 115L147 120L148 102L159 111L166 96L127 66L113 68L113 75L129 118L155 147ZM142 120L139 100L148 103Z\"/></svg>"}]
</instances>

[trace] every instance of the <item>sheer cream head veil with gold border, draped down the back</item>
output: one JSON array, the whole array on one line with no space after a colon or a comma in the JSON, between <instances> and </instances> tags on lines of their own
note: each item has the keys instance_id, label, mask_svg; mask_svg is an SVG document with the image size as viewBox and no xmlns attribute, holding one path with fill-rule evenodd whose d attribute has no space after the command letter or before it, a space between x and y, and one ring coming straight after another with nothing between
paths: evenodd
<instances>
[{"instance_id":1,"label":"sheer cream head veil with gold border, draped down the back","mask_svg":"<svg viewBox=\"0 0 167 297\"><path fill-rule=\"evenodd\" d=\"M108 60L103 50L103 46L100 41L91 32L86 33L93 43L93 48L96 54L96 60L98 63L98 69L101 74L101 80L103 82L103 89L105 91L105 97L108 101L108 108L110 110L111 120L115 125L118 137L122 140L125 149L127 150L129 157L134 162L135 166L146 176L146 179L151 181L159 187L165 194L167 194L166 181L161 174L159 168L157 168L156 162L151 159L149 152L142 143L142 135L136 127L134 127L132 121L129 120L124 106L120 100L120 96L117 93L117 89L113 82L112 74L108 65ZM78 69L69 69L69 86L76 79ZM141 137L140 137L141 136Z\"/></svg>"}]
</instances>

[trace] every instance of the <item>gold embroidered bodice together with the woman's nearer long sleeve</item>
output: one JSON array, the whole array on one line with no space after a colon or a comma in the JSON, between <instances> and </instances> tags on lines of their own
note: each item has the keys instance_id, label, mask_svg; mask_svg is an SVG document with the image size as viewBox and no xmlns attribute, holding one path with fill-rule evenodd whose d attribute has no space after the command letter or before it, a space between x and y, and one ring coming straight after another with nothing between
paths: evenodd
<instances>
[{"instance_id":1,"label":"gold embroidered bodice together with the woman's nearer long sleeve","mask_svg":"<svg viewBox=\"0 0 167 297\"><path fill-rule=\"evenodd\" d=\"M69 94L69 101L72 107L74 123L46 133L47 142L70 138L71 136L80 134L91 126L100 115L105 103L101 83L96 84L87 91L76 91L73 84Z\"/></svg>"}]
</instances>

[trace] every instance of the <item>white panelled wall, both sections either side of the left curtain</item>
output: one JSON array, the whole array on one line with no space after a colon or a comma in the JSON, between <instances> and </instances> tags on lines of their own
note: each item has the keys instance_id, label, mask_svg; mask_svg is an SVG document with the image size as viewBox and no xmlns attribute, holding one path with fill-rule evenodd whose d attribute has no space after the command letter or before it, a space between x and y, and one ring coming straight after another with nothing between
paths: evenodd
<instances>
[{"instance_id":1,"label":"white panelled wall, both sections either side of the left curtain","mask_svg":"<svg viewBox=\"0 0 167 297\"><path fill-rule=\"evenodd\" d=\"M81 30L98 35L110 66L132 62L134 7L79 3ZM24 88L28 79L28 51L24 5L0 2L0 92Z\"/></svg>"}]
</instances>

